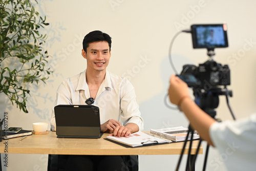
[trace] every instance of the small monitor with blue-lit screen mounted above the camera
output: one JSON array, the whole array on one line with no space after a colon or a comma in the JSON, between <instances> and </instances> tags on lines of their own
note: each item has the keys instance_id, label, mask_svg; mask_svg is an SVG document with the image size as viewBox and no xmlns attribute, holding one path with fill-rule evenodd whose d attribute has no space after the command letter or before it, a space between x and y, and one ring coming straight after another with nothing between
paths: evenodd
<instances>
[{"instance_id":1,"label":"small monitor with blue-lit screen mounted above the camera","mask_svg":"<svg viewBox=\"0 0 256 171\"><path fill-rule=\"evenodd\" d=\"M192 25L193 48L226 48L227 26L225 24Z\"/></svg>"}]
</instances>

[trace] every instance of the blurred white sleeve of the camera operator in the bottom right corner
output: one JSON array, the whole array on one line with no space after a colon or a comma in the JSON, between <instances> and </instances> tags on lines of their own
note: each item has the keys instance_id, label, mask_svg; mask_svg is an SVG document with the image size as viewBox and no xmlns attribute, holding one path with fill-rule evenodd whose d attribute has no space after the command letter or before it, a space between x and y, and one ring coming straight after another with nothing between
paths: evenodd
<instances>
[{"instance_id":1,"label":"blurred white sleeve of the camera operator in the bottom right corner","mask_svg":"<svg viewBox=\"0 0 256 171\"><path fill-rule=\"evenodd\" d=\"M228 170L255 169L256 114L239 121L216 122L209 134Z\"/></svg>"}]
</instances>

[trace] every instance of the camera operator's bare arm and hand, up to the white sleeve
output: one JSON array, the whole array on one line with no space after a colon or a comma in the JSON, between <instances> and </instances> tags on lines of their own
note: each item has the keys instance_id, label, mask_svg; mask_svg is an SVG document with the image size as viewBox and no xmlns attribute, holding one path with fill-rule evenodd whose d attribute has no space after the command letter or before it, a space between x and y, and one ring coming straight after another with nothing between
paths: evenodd
<instances>
[{"instance_id":1,"label":"camera operator's bare arm and hand, up to the white sleeve","mask_svg":"<svg viewBox=\"0 0 256 171\"><path fill-rule=\"evenodd\" d=\"M208 144L214 145L209 136L209 129L211 124L216 122L215 119L190 99L187 84L175 75L170 77L169 99L172 103L180 105L181 111L184 112L193 129L199 132L200 137Z\"/></svg>"}]
</instances>

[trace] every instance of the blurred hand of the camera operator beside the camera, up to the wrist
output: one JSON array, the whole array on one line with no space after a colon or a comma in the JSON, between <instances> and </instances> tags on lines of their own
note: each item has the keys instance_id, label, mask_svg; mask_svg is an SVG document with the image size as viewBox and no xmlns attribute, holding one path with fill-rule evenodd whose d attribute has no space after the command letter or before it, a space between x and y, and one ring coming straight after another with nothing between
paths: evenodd
<instances>
[{"instance_id":1,"label":"blurred hand of the camera operator beside the camera, up to the wrist","mask_svg":"<svg viewBox=\"0 0 256 171\"><path fill-rule=\"evenodd\" d=\"M174 74L170 76L168 93L170 102L176 105L180 105L184 98L189 97L187 84Z\"/></svg>"}]
</instances>

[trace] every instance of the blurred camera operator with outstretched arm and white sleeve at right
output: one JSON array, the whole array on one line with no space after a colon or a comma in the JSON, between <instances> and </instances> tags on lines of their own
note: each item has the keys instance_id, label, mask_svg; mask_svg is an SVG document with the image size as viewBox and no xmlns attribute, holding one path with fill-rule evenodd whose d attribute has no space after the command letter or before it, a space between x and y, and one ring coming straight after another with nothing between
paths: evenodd
<instances>
[{"instance_id":1,"label":"blurred camera operator with outstretched arm and white sleeve at right","mask_svg":"<svg viewBox=\"0 0 256 171\"><path fill-rule=\"evenodd\" d=\"M168 92L170 101L180 106L200 137L218 148L228 170L255 170L256 114L219 123L191 100L187 84L175 75L170 77Z\"/></svg>"}]
</instances>

